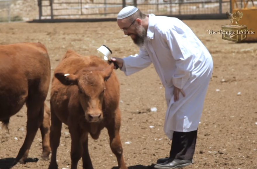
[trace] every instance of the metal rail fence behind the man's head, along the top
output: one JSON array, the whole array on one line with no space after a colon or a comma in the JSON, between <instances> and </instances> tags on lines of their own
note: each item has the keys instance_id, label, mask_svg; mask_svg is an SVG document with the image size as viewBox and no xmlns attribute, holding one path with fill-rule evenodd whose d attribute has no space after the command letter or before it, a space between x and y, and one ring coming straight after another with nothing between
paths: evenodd
<instances>
[{"instance_id":1,"label":"metal rail fence behind the man's head, along the top","mask_svg":"<svg viewBox=\"0 0 257 169\"><path fill-rule=\"evenodd\" d=\"M129 5L156 15L215 15L230 11L230 0L41 0L39 18L115 18Z\"/></svg>"}]
</instances>

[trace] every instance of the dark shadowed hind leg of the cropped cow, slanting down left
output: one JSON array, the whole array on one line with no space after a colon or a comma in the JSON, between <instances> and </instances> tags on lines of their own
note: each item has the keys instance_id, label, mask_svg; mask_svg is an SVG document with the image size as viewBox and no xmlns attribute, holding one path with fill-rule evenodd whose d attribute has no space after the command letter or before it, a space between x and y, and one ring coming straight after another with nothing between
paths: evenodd
<instances>
[{"instance_id":1,"label":"dark shadowed hind leg of the cropped cow, slanting down left","mask_svg":"<svg viewBox=\"0 0 257 169\"><path fill-rule=\"evenodd\" d=\"M22 147L15 159L15 164L25 163L28 157L30 146L37 134L39 126L41 126L44 118L44 99L30 98L27 102L27 133Z\"/></svg>"}]
</instances>

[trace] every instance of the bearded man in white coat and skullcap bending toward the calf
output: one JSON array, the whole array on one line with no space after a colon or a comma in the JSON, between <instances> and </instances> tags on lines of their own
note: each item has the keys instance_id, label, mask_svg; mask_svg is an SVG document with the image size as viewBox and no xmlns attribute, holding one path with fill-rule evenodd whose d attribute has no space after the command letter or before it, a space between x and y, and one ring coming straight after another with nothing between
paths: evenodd
<instances>
[{"instance_id":1,"label":"bearded man in white coat and skullcap bending toward the calf","mask_svg":"<svg viewBox=\"0 0 257 169\"><path fill-rule=\"evenodd\" d=\"M163 86L167 110L164 132L172 140L170 156L158 159L159 169L192 164L197 128L211 79L211 54L193 31L175 17L144 15L134 6L123 8L117 24L140 47L139 54L113 57L125 75L153 63ZM110 64L110 62L109 62Z\"/></svg>"}]
</instances>

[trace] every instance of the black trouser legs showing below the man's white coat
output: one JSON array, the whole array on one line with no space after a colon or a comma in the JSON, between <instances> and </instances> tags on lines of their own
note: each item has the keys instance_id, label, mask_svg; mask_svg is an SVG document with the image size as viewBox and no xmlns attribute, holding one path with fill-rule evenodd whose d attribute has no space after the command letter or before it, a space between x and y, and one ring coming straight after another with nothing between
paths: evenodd
<instances>
[{"instance_id":1,"label":"black trouser legs showing below the man's white coat","mask_svg":"<svg viewBox=\"0 0 257 169\"><path fill-rule=\"evenodd\" d=\"M197 130L190 132L174 131L170 158L180 160L192 160L195 153Z\"/></svg>"}]
</instances>

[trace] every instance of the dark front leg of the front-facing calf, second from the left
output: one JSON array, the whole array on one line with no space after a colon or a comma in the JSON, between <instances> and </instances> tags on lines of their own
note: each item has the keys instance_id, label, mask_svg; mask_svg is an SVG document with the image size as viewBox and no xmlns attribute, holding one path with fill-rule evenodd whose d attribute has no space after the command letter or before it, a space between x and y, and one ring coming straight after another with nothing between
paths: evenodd
<instances>
[{"instance_id":1,"label":"dark front leg of the front-facing calf, second from the left","mask_svg":"<svg viewBox=\"0 0 257 169\"><path fill-rule=\"evenodd\" d=\"M78 162L83 155L83 139L81 139L82 132L79 126L76 125L76 122L70 124L71 125L69 125L69 131L71 137L71 169L77 169Z\"/></svg>"}]
</instances>

